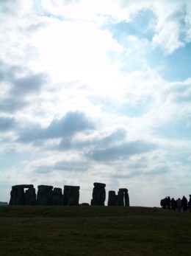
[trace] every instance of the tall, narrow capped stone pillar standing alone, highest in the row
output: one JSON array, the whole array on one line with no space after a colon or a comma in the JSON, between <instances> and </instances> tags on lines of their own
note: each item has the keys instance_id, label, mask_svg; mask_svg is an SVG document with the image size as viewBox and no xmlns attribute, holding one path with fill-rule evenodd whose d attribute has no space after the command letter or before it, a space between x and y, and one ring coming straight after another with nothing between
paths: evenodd
<instances>
[{"instance_id":1,"label":"tall, narrow capped stone pillar standing alone, highest in the row","mask_svg":"<svg viewBox=\"0 0 191 256\"><path fill-rule=\"evenodd\" d=\"M93 185L93 199L91 200L91 205L104 206L104 201L106 200L106 184L95 182Z\"/></svg>"}]
</instances>

